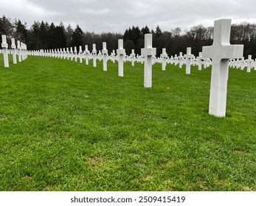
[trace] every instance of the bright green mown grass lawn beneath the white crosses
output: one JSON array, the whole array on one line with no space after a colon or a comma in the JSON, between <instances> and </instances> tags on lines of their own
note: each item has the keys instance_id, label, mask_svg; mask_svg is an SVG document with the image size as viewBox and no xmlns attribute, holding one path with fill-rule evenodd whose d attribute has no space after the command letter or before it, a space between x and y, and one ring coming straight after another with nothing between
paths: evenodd
<instances>
[{"instance_id":1,"label":"bright green mown grass lawn beneath the white crosses","mask_svg":"<svg viewBox=\"0 0 256 206\"><path fill-rule=\"evenodd\" d=\"M143 88L140 63L0 55L0 190L256 191L256 71L230 69L216 118L210 68L184 70Z\"/></svg>"}]
</instances>

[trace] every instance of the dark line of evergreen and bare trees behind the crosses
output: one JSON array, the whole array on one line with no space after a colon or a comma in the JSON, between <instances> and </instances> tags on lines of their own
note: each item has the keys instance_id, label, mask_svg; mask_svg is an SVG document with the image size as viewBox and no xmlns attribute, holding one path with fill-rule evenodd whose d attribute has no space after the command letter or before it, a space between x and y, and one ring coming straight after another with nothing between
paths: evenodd
<instances>
[{"instance_id":1,"label":"dark line of evergreen and bare trees behind the crosses","mask_svg":"<svg viewBox=\"0 0 256 206\"><path fill-rule=\"evenodd\" d=\"M156 47L157 56L162 54L162 48L166 48L169 56L186 53L187 47L192 48L192 53L198 56L202 46L212 44L213 27L205 27L203 25L193 26L190 29L182 31L179 27L170 29L170 31L162 31L159 26L156 29L149 29L148 26L139 28L139 26L131 26L125 29L123 34L103 32L96 34L94 32L83 32L79 25L75 29L70 26L64 26L62 22L58 26L54 23L49 24L44 21L35 21L30 28L26 23L22 23L19 19L6 18L4 15L0 18L0 35L7 35L7 38L15 38L27 44L28 50L38 49L58 49L87 44L89 50L92 49L92 43L96 43L97 50L102 49L102 43L107 43L108 53L116 50L118 47L118 39L124 39L124 48L127 54L131 54L131 49L136 54L140 54L144 47L144 35L153 34L153 47ZM8 42L10 45L10 42ZM242 22L240 24L232 24L230 43L244 45L244 57L252 54L256 58L256 24Z\"/></svg>"}]
</instances>

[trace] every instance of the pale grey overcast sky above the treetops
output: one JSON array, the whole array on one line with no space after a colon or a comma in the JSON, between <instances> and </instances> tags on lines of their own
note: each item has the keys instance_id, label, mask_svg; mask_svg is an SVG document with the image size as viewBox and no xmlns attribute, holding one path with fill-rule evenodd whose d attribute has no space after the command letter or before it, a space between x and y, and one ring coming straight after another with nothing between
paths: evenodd
<instances>
[{"instance_id":1,"label":"pale grey overcast sky above the treetops","mask_svg":"<svg viewBox=\"0 0 256 206\"><path fill-rule=\"evenodd\" d=\"M60 21L84 32L121 32L129 26L147 25L163 31L203 24L213 26L218 18L232 23L256 23L255 0L0 0L0 15L33 21Z\"/></svg>"}]
</instances>

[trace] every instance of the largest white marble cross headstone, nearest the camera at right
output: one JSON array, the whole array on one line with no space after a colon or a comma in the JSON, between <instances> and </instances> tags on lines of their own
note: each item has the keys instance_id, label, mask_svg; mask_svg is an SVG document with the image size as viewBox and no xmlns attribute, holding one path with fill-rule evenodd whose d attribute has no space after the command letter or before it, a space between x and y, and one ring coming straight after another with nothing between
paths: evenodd
<instances>
[{"instance_id":1,"label":"largest white marble cross headstone, nearest the camera at right","mask_svg":"<svg viewBox=\"0 0 256 206\"><path fill-rule=\"evenodd\" d=\"M243 57L243 45L230 45L231 19L214 22L212 46L203 47L203 57L212 59L209 113L226 116L226 90L229 59Z\"/></svg>"}]
</instances>

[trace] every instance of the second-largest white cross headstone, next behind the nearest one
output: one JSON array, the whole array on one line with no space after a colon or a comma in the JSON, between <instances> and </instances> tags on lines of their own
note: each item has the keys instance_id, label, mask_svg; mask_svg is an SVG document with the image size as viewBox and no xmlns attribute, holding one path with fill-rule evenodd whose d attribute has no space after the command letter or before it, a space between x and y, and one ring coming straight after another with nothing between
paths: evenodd
<instances>
[{"instance_id":1,"label":"second-largest white cross headstone, next behind the nearest one","mask_svg":"<svg viewBox=\"0 0 256 206\"><path fill-rule=\"evenodd\" d=\"M141 50L145 57L144 63L144 87L152 88L152 56L156 55L156 48L152 48L152 34L145 35L145 48Z\"/></svg>"}]
</instances>

